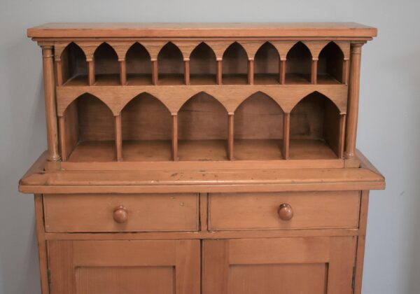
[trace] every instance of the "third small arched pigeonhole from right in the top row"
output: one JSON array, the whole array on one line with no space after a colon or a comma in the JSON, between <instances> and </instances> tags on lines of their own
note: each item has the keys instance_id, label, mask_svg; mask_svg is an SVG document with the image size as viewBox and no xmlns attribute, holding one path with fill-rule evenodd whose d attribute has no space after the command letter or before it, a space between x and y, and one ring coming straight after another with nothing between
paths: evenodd
<instances>
[{"instance_id":1,"label":"third small arched pigeonhole from right in the top row","mask_svg":"<svg viewBox=\"0 0 420 294\"><path fill-rule=\"evenodd\" d=\"M279 83L280 56L272 43L265 42L255 53L255 85L272 85Z\"/></svg>"}]
</instances>

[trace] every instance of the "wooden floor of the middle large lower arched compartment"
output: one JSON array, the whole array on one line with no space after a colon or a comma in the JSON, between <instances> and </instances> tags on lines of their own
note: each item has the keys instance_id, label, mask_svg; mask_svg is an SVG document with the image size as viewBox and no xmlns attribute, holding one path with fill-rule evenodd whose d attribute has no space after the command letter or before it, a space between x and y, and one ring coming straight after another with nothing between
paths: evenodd
<instances>
[{"instance_id":1,"label":"wooden floor of the middle large lower arched compartment","mask_svg":"<svg viewBox=\"0 0 420 294\"><path fill-rule=\"evenodd\" d=\"M178 157L182 161L228 160L228 140L179 140Z\"/></svg>"}]
</instances>

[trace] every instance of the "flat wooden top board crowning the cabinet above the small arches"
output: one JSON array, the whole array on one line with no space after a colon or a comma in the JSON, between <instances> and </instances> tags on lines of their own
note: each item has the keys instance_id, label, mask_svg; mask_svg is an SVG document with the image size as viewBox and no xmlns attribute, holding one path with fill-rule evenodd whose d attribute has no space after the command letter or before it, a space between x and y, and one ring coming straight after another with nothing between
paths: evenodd
<instances>
[{"instance_id":1,"label":"flat wooden top board crowning the cabinet above the small arches","mask_svg":"<svg viewBox=\"0 0 420 294\"><path fill-rule=\"evenodd\" d=\"M355 22L48 23L28 29L35 39L63 38L344 38L370 40L377 29Z\"/></svg>"}]
</instances>

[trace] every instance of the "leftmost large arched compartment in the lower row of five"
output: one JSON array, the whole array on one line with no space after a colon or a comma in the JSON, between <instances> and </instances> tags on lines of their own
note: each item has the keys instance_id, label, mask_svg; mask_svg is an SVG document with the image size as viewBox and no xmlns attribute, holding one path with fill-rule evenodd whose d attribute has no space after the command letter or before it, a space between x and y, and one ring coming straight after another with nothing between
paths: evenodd
<instances>
[{"instance_id":1,"label":"leftmost large arched compartment in the lower row of five","mask_svg":"<svg viewBox=\"0 0 420 294\"><path fill-rule=\"evenodd\" d=\"M68 161L116 160L113 113L97 97L83 94L74 100L64 111L64 126Z\"/></svg>"}]
</instances>

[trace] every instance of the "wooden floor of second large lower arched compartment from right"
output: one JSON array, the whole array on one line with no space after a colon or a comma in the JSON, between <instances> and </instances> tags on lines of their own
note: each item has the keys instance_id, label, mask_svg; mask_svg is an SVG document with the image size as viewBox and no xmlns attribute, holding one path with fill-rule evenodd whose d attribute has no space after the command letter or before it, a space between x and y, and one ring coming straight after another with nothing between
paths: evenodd
<instances>
[{"instance_id":1,"label":"wooden floor of second large lower arched compartment from right","mask_svg":"<svg viewBox=\"0 0 420 294\"><path fill-rule=\"evenodd\" d=\"M282 140L235 139L235 160L282 160Z\"/></svg>"}]
</instances>

